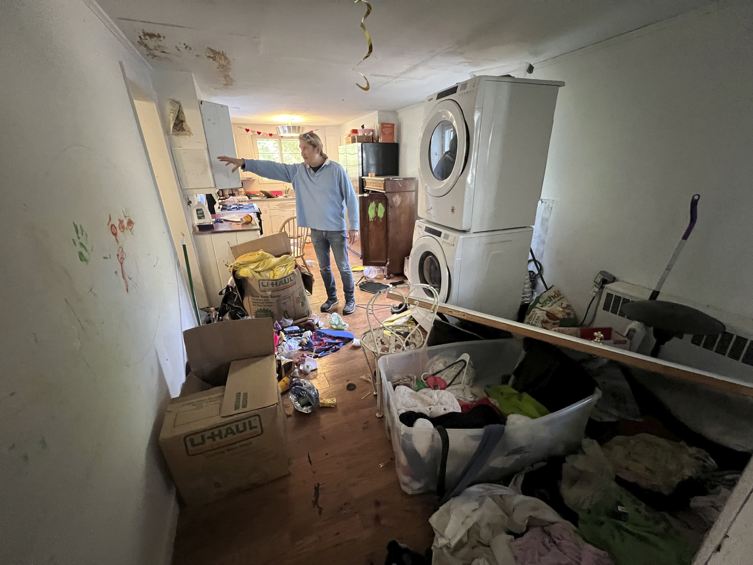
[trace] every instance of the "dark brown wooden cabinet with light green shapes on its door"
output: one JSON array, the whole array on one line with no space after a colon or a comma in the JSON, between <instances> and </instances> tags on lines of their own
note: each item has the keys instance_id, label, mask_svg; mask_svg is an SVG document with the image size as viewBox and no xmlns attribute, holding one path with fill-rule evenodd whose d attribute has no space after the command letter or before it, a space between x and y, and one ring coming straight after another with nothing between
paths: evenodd
<instances>
[{"instance_id":1,"label":"dark brown wooden cabinet with light green shapes on its door","mask_svg":"<svg viewBox=\"0 0 753 565\"><path fill-rule=\"evenodd\" d=\"M416 222L416 179L372 177L370 184L382 189L366 189L359 194L361 207L361 255L364 265L387 267L392 275L403 272L404 259L413 245ZM374 183L374 184L373 184Z\"/></svg>"}]
</instances>

